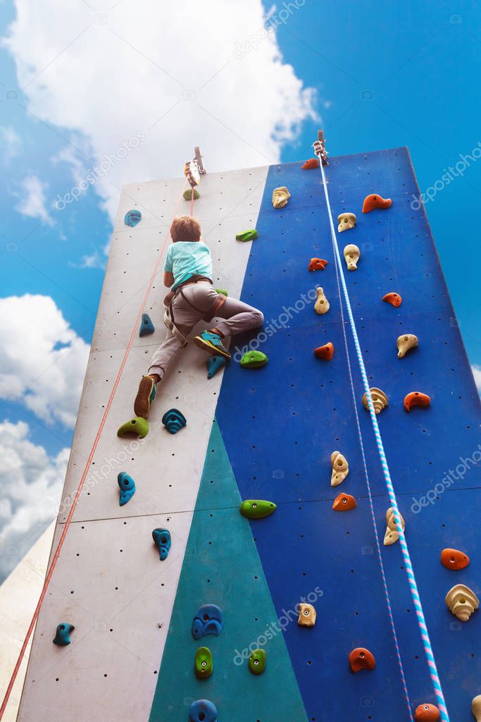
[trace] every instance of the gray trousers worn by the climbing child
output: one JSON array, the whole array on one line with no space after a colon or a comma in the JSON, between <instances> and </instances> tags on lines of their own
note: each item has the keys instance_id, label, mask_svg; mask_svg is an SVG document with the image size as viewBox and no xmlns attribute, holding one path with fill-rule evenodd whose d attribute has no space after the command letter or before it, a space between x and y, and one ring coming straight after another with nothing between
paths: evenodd
<instances>
[{"instance_id":1,"label":"gray trousers worn by the climbing child","mask_svg":"<svg viewBox=\"0 0 481 722\"><path fill-rule=\"evenodd\" d=\"M182 336L188 336L193 327L208 314L219 298L212 284L207 281L199 281L183 287L185 297L195 308L189 305L182 295L178 294L172 305L174 311L175 325ZM200 310L196 310L196 309ZM257 329L264 323L264 316L253 306L243 303L235 298L227 297L221 308L216 311L215 318L222 318L223 321L211 321L210 328L215 328L224 336L234 336L242 331ZM149 373L156 373L162 378L169 362L180 350L180 341L167 329L164 341L160 344L151 358Z\"/></svg>"}]
</instances>

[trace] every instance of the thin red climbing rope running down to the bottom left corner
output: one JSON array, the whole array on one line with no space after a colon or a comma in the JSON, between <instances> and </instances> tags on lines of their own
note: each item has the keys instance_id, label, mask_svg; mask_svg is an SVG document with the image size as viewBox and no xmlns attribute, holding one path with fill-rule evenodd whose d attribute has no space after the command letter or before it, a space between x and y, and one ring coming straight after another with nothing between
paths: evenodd
<instances>
[{"instance_id":1,"label":"thin red climbing rope running down to the bottom left corner","mask_svg":"<svg viewBox=\"0 0 481 722\"><path fill-rule=\"evenodd\" d=\"M182 198L182 193L184 192L184 189L185 189L186 184L187 184L187 181L184 183L184 186L182 186L182 191L180 191L180 197L179 197L179 199L178 199L178 201L177 201L177 205L175 206L174 216L177 214L177 209L179 208L180 199ZM193 201L192 201L192 202L193 202ZM12 677L10 678L9 686L6 688L6 692L5 692L5 696L4 696L4 701L1 703L1 707L0 707L0 720L1 720L1 719L3 718L3 716L4 716L4 712L5 712L5 710L6 710L6 705L8 704L9 697L10 697L10 695L12 694L12 689L13 689L13 686L14 686L14 684L15 684L15 680L17 679L17 674L18 674L18 672L19 672L20 665L22 664L22 660L23 660L23 658L24 658L24 656L25 656L25 650L27 649L28 642L29 642L29 640L30 640L30 637L32 636L33 629L34 629L35 624L36 624L36 622L37 622L38 614L39 614L39 612L40 612L40 607L42 606L43 600L45 599L45 594L47 593L48 585L50 584L50 580L51 580L52 575L53 575L53 570L55 569L56 563L58 562L58 557L60 556L60 552L61 552L61 549L62 549L62 547L63 547L63 541L65 541L65 537L66 537L67 531L69 531L69 526L70 526L70 523L71 523L71 521L72 521L72 517L74 516L74 512L75 512L75 509L76 509L76 505L77 505L77 502L79 501L79 498L80 498L80 495L81 495L82 487L84 486L85 479L87 478L87 473L88 473L88 471L89 471L90 464L92 463L92 459L94 458L94 453L95 453L95 451L96 451L96 449L97 449L97 445L98 445L99 440L100 440L100 435L102 434L102 430L103 430L103 428L104 428L104 426L105 426L105 422L106 422L106 420L107 420L108 413L110 412L110 406L112 406L112 401L113 401L114 396L115 396L115 391L117 391L118 384L120 383L120 376L121 376L122 373L123 373L123 370L124 370L124 367L125 367L125 363L127 362L128 355L129 355L129 353L131 352L131 348L132 348L132 344L133 344L133 339L135 338L136 331L137 331L137 329L138 329L138 324L139 324L140 321L141 321L141 316L142 316L142 313L144 312L144 307L145 307L145 305L146 305L146 303L147 303L147 298L149 297L149 293L150 293L150 291L151 291L151 287L152 287L152 285L154 284L154 278L155 278L156 273L157 273L157 271L158 271L158 269L159 269L159 264L160 264L162 255L163 255L163 253L164 253L164 248L165 248L165 246L166 246L166 244L167 244L167 239L169 238L169 231L170 231L170 227L169 227L169 229L167 230L167 232L166 232L166 234L165 234L165 236L164 236L164 242L162 243L162 248L160 249L159 256L158 256L158 258L157 258L157 260L156 260L156 264L155 264L155 266L154 266L154 271L152 272L152 275L151 275L151 277L150 277L149 283L147 284L146 292L145 292L145 295L144 295L144 300L142 301L141 308L140 308L140 310L138 311L138 316L137 316L137 318L136 318L136 322L134 323L134 326L133 326L133 329L132 329L132 333L131 333L131 337L130 337L130 339L129 339L129 341L128 341L127 348L125 349L125 354L123 355L123 359L122 359L122 362L121 362L121 364L120 364L120 367L119 367L119 370L118 370L118 373L117 373L117 377L115 378L114 384L113 384L113 386L112 386L112 391L110 392L109 400L107 401L107 404L106 404L106 406L105 406L105 412L104 412L104 414L103 414L103 416L102 416L102 420L101 420L100 425L99 425L99 428L98 428L98 430L97 430L97 434L95 435L94 443L93 443L93 445L92 445L92 450L91 450L90 453L89 453L89 458L87 459L87 464L85 464L85 469L84 469L83 474L81 475L81 479L80 479L80 482L79 482L79 486L78 486L77 489L76 489L75 496L74 496L74 501L73 501L73 503L72 503L72 505L71 505L71 509L70 509L70 512L69 512L69 516L67 517L67 521L66 521L65 525L63 526L63 531L62 531L62 534L61 534L60 539L58 540L58 544L57 544L57 548L56 548L56 550L55 550L55 553L53 554L53 560L52 560L52 563L51 563L51 565L50 565L50 569L48 570L48 573L47 573L47 575L45 576L45 582L43 583L43 588L42 588L42 591L40 592L40 597L39 597L39 599L38 599L38 601L37 601L37 606L35 607L35 612L33 613L32 621L30 622L30 627L28 627L27 635L26 635L26 637L25 637L24 643L22 644L22 649L20 650L20 653L19 653L19 656L18 656L18 659L17 659L17 664L15 664Z\"/></svg>"}]
</instances>

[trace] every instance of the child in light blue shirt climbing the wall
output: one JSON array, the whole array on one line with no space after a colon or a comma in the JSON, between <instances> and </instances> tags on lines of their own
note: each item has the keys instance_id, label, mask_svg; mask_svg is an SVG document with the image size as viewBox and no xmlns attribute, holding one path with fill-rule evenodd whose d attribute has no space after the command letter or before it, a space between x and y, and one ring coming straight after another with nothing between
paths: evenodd
<instances>
[{"instance_id":1,"label":"child in light blue shirt climbing the wall","mask_svg":"<svg viewBox=\"0 0 481 722\"><path fill-rule=\"evenodd\" d=\"M151 358L149 373L141 379L133 410L136 416L149 417L156 387L175 354L187 346L187 336L201 320L221 321L195 336L194 343L210 355L231 355L226 339L262 326L264 316L247 303L216 292L212 284L211 251L200 237L200 223L190 216L175 218L170 227L172 245L164 266L164 285L172 290L164 298L167 334Z\"/></svg>"}]
</instances>

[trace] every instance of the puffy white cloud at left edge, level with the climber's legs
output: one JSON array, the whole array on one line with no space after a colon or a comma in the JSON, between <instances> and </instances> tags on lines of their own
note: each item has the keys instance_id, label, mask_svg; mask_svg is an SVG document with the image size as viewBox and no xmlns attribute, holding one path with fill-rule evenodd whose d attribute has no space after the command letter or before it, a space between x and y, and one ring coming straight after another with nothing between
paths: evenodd
<instances>
[{"instance_id":1,"label":"puffy white cloud at left edge, level with the climber's legs","mask_svg":"<svg viewBox=\"0 0 481 722\"><path fill-rule=\"evenodd\" d=\"M50 296L0 298L0 399L73 427L88 355Z\"/></svg>"}]
</instances>

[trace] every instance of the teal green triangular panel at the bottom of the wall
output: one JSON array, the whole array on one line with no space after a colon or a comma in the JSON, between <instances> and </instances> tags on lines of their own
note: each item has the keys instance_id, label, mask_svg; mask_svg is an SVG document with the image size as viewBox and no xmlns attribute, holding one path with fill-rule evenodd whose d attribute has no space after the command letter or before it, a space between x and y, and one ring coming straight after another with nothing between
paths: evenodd
<instances>
[{"instance_id":1,"label":"teal green triangular panel at the bottom of the wall","mask_svg":"<svg viewBox=\"0 0 481 722\"><path fill-rule=\"evenodd\" d=\"M240 503L214 421L150 722L187 720L190 704L200 698L216 705L220 722L306 722L255 539L249 521L239 513ZM269 524L270 518L257 523ZM219 637L193 639L190 627L201 604L217 604L224 612ZM297 624L294 614L288 623ZM246 658L242 653L259 642L267 652L267 665L256 677L248 669L247 652ZM205 680L194 673L200 646L213 654L213 675Z\"/></svg>"}]
</instances>

